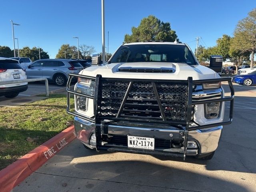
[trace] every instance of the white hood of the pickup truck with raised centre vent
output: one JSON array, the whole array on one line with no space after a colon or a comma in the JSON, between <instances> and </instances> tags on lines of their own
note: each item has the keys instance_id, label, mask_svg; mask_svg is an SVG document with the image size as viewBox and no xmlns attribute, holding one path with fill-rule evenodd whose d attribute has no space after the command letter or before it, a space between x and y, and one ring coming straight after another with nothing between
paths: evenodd
<instances>
[{"instance_id":1,"label":"white hood of the pickup truck with raised centre vent","mask_svg":"<svg viewBox=\"0 0 256 192\"><path fill-rule=\"evenodd\" d=\"M146 69L146 70L172 70L168 73L154 72L123 72L119 69ZM112 63L104 66L88 67L80 72L82 75L102 75L105 78L134 78L134 79L166 79L166 80L193 80L214 79L216 73L201 65L188 65L186 63L163 63L163 62L129 62Z\"/></svg>"}]
</instances>

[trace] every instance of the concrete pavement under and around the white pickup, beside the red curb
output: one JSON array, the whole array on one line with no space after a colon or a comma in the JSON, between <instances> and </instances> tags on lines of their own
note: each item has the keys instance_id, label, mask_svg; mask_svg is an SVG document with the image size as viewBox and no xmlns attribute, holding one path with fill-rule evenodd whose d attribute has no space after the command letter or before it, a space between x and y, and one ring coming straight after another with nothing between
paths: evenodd
<instances>
[{"instance_id":1,"label":"concrete pavement under and around the white pickup, beside the red curb","mask_svg":"<svg viewBox=\"0 0 256 192\"><path fill-rule=\"evenodd\" d=\"M228 86L223 85L228 95ZM214 158L85 150L74 140L14 188L18 191L255 191L256 86L234 84L234 120L224 126ZM226 103L226 113L229 110Z\"/></svg>"}]
</instances>

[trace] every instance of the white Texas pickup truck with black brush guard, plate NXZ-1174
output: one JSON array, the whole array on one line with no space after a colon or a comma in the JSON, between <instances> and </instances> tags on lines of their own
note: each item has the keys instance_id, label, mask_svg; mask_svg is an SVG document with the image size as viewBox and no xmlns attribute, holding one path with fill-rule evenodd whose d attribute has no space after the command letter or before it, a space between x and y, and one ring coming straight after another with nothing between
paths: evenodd
<instances>
[{"instance_id":1,"label":"white Texas pickup truck with black brush guard, plate NXZ-1174","mask_svg":"<svg viewBox=\"0 0 256 192\"><path fill-rule=\"evenodd\" d=\"M78 83L70 90L74 77ZM226 98L223 81L231 90ZM232 122L231 78L199 65L182 43L122 44L108 63L70 74L67 92L67 112L87 149L211 159L223 125Z\"/></svg>"}]
</instances>

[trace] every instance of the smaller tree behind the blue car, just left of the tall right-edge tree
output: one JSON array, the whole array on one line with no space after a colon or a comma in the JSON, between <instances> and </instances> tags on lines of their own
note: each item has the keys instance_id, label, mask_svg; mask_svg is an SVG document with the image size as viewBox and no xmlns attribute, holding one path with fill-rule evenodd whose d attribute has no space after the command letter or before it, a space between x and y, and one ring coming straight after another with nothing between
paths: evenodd
<instances>
[{"instance_id":1,"label":"smaller tree behind the blue car, just left of the tall right-edge tree","mask_svg":"<svg viewBox=\"0 0 256 192\"><path fill-rule=\"evenodd\" d=\"M250 51L244 52L237 48L237 41L239 41L240 38L233 37L230 39L230 48L229 48L229 55L230 55L230 61L234 62L236 66L236 74L238 67L243 63L244 60L249 60L250 57Z\"/></svg>"}]
</instances>

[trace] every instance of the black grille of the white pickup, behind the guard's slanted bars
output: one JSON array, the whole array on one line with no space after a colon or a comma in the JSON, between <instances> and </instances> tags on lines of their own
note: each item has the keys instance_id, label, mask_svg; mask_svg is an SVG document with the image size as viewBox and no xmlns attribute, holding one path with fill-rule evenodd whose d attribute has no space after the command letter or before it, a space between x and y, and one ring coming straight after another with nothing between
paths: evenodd
<instances>
[{"instance_id":1,"label":"black grille of the white pickup, behind the guard's slanted bars","mask_svg":"<svg viewBox=\"0 0 256 192\"><path fill-rule=\"evenodd\" d=\"M128 80L102 78L98 92L99 117L116 117L129 83ZM188 85L174 82L155 84L166 120L186 120ZM138 81L132 84L120 117L163 119L152 82Z\"/></svg>"}]
</instances>

